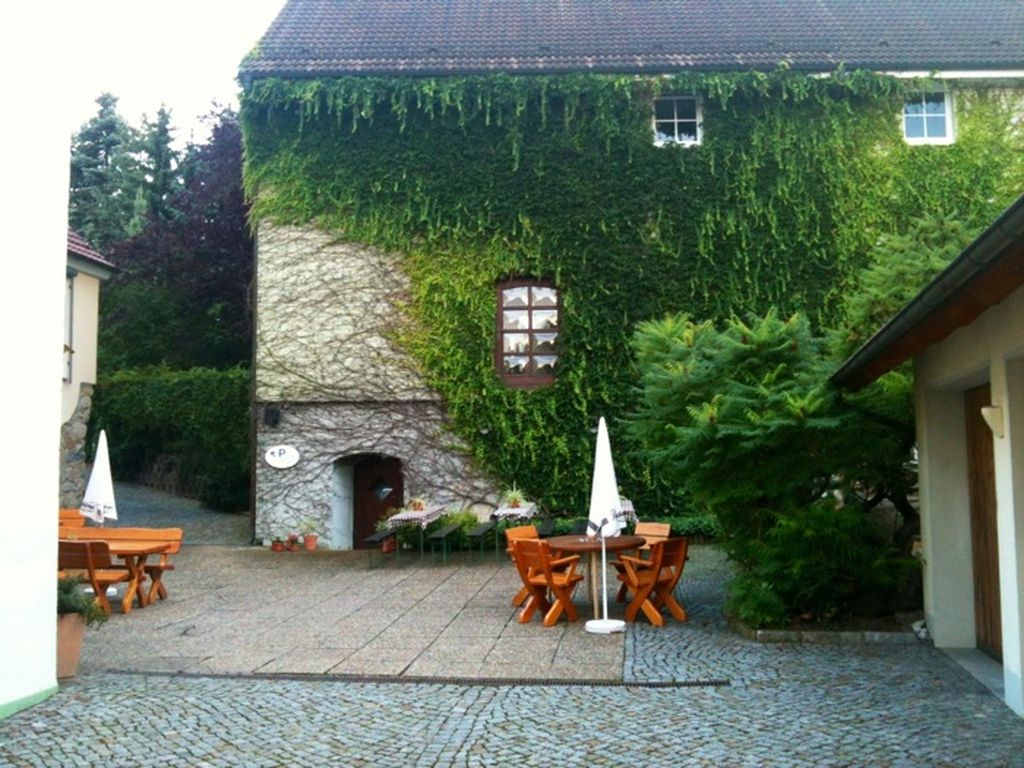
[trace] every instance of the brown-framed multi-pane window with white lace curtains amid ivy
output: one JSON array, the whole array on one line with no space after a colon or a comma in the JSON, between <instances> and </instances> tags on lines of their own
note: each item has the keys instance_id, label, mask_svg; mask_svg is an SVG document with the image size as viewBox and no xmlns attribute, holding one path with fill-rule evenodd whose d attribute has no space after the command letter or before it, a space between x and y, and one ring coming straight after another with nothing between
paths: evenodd
<instances>
[{"instance_id":1,"label":"brown-framed multi-pane window with white lace curtains amid ivy","mask_svg":"<svg viewBox=\"0 0 1024 768\"><path fill-rule=\"evenodd\" d=\"M498 376L511 387L555 380L559 356L558 290L547 281L517 279L498 285Z\"/></svg>"}]
</instances>

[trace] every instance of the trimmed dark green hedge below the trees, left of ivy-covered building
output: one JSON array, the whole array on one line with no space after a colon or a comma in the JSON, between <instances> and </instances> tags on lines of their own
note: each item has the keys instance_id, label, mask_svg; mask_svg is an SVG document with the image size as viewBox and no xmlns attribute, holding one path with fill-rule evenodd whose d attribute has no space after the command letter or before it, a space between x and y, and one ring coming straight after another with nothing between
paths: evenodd
<instances>
[{"instance_id":1,"label":"trimmed dark green hedge below the trees, left of ivy-covered building","mask_svg":"<svg viewBox=\"0 0 1024 768\"><path fill-rule=\"evenodd\" d=\"M114 476L135 479L162 454L213 509L249 509L248 369L120 371L100 379L92 434L106 430Z\"/></svg>"}]
</instances>

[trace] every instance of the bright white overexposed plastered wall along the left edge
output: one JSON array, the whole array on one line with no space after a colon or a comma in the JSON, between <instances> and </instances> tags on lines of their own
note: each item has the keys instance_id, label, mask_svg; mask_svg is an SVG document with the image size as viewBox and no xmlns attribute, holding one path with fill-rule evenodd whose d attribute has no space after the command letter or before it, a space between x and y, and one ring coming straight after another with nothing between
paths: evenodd
<instances>
[{"instance_id":1,"label":"bright white overexposed plastered wall along the left edge","mask_svg":"<svg viewBox=\"0 0 1024 768\"><path fill-rule=\"evenodd\" d=\"M68 140L63 54L70 30L44 4L0 9L0 66L31 77L8 78L10 103L32 104L32 118L0 121L0 210L12 299L0 305L0 397L7 404L0 440L4 507L0 515L0 717L56 689L57 451L68 246ZM44 98L40 97L45 93ZM13 513L16 511L16 514Z\"/></svg>"}]
</instances>

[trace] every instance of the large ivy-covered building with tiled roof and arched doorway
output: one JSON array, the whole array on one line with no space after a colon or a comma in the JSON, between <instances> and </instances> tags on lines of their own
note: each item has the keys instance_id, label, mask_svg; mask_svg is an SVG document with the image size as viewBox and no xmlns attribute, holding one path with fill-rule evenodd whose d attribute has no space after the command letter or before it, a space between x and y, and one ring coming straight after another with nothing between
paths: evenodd
<instances>
[{"instance_id":1,"label":"large ivy-covered building with tiled roof and arched doorway","mask_svg":"<svg viewBox=\"0 0 1024 768\"><path fill-rule=\"evenodd\" d=\"M1024 188L1018 0L289 0L241 80L264 539L584 513L600 416L663 512L637 322L827 326L881 234Z\"/></svg>"}]
</instances>

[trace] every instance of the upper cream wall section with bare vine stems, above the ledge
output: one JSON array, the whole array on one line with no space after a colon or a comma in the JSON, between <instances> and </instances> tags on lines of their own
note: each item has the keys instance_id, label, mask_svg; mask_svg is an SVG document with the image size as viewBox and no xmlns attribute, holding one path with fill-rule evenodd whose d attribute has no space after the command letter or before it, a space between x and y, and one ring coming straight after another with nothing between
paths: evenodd
<instances>
[{"instance_id":1,"label":"upper cream wall section with bare vine stems, above the ledge","mask_svg":"<svg viewBox=\"0 0 1024 768\"><path fill-rule=\"evenodd\" d=\"M388 338L408 286L398 261L313 227L261 224L257 401L433 399Z\"/></svg>"}]
</instances>

